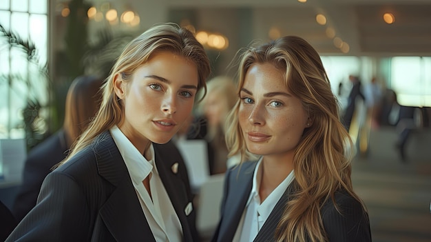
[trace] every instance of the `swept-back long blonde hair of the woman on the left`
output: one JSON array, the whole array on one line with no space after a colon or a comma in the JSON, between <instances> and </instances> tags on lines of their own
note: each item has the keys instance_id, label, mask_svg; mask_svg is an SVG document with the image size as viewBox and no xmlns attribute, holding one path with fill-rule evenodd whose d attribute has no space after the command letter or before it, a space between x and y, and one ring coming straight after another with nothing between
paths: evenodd
<instances>
[{"instance_id":1,"label":"swept-back long blonde hair of the woman on the left","mask_svg":"<svg viewBox=\"0 0 431 242\"><path fill-rule=\"evenodd\" d=\"M114 92L114 78L120 74L124 81L129 81L129 77L137 68L145 64L152 54L162 50L174 52L195 63L199 76L198 90L203 88L206 92L205 82L210 73L209 59L193 33L185 28L180 28L176 23L163 23L149 28L125 46L103 84L102 103L96 117L61 164L67 162L79 150L90 145L98 134L123 122L124 107Z\"/></svg>"}]
</instances>

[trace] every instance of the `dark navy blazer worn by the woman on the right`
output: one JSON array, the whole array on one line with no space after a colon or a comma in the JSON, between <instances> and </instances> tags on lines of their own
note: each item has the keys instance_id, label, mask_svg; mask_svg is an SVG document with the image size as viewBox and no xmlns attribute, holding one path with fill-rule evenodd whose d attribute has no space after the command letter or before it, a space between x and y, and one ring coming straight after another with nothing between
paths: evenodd
<instances>
[{"instance_id":1,"label":"dark navy blazer worn by the woman on the right","mask_svg":"<svg viewBox=\"0 0 431 242\"><path fill-rule=\"evenodd\" d=\"M247 161L240 166L228 170L224 182L220 223L211 241L222 242L233 240L247 199L249 199L256 164L256 161ZM277 228L277 224L280 221L289 194L293 192L293 183L288 186L277 202L261 230L257 233L254 241L275 241L275 228ZM346 192L337 192L335 200L343 211L343 214L339 214L335 210L332 201L326 202L321 210L322 221L329 241L371 241L368 214L361 207L361 204Z\"/></svg>"}]
</instances>

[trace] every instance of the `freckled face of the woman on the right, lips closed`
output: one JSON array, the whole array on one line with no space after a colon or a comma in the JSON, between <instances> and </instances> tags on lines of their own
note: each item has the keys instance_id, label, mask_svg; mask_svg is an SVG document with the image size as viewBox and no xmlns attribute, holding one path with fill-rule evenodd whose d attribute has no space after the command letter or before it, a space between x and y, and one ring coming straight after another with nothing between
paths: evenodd
<instances>
[{"instance_id":1,"label":"freckled face of the woman on the right, lips closed","mask_svg":"<svg viewBox=\"0 0 431 242\"><path fill-rule=\"evenodd\" d=\"M308 114L284 85L283 72L271 63L251 65L240 98L238 118L247 149L258 155L293 157Z\"/></svg>"}]
</instances>

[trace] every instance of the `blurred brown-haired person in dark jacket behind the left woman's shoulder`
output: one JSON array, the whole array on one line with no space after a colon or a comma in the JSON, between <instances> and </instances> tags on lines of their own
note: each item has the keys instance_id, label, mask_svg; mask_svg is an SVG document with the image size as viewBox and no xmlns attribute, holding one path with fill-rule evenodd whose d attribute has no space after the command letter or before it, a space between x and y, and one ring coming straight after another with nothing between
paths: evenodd
<instances>
[{"instance_id":1,"label":"blurred brown-haired person in dark jacket behind the left woman's shoulder","mask_svg":"<svg viewBox=\"0 0 431 242\"><path fill-rule=\"evenodd\" d=\"M36 205L43 179L52 167L63 161L72 143L82 134L96 114L101 101L99 92L103 81L82 76L72 81L65 101L63 127L30 150L24 163L23 183L12 205L17 221L21 221Z\"/></svg>"}]
</instances>

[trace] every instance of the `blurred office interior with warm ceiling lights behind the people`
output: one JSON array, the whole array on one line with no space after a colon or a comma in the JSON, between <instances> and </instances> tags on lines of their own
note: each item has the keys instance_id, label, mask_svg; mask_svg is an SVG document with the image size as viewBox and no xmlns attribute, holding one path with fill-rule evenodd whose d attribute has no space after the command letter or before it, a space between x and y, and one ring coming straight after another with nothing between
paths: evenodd
<instances>
[{"instance_id":1,"label":"blurred office interior with warm ceiling lights behind the people","mask_svg":"<svg viewBox=\"0 0 431 242\"><path fill-rule=\"evenodd\" d=\"M71 81L105 75L130 38L169 21L196 33L213 76L235 77L232 60L252 41L298 35L321 54L341 109L349 75L364 89L375 78L399 106L414 107L401 157L397 119L374 123L366 101L357 103L353 181L368 206L373 241L430 241L430 13L431 0L0 0L0 199L11 205L19 161L61 126ZM220 189L220 176L211 182L205 188ZM214 222L201 223L209 236Z\"/></svg>"}]
</instances>

